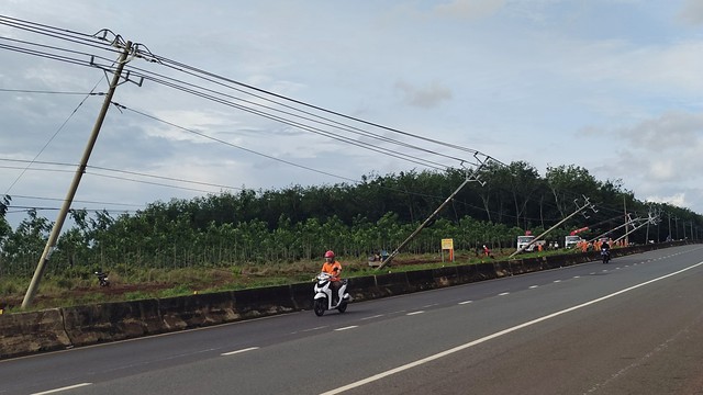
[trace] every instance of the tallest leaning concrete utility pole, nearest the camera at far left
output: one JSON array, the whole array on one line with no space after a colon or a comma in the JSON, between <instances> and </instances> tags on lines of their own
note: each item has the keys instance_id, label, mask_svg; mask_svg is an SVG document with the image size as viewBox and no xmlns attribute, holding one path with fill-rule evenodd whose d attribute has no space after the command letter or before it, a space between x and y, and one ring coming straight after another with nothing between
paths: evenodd
<instances>
[{"instance_id":1,"label":"tallest leaning concrete utility pole, nearest the camera at far left","mask_svg":"<svg viewBox=\"0 0 703 395\"><path fill-rule=\"evenodd\" d=\"M46 262L52 257L52 253L56 249L56 240L58 240L58 235L62 232L62 227L64 226L64 222L66 221L66 215L68 214L68 210L70 208L71 203L74 202L74 196L76 195L76 191L78 190L78 184L80 183L80 179L88 167L88 159L90 158L90 154L92 153L92 148L96 145L96 140L98 139L98 134L100 133L100 127L102 126L102 122L108 114L108 108L112 102L112 97L114 94L115 88L120 82L120 78L122 76L122 69L124 65L127 63L127 55L132 50L132 42L126 42L122 54L120 54L120 59L118 60L118 67L114 71L114 76L112 77L112 82L110 82L110 89L108 90L108 94L105 95L105 100L102 104L102 109L100 110L100 114L98 115L98 120L96 121L96 125L92 128L92 133L86 145L86 149L83 150L83 156L80 159L80 165L76 169L76 173L74 174L74 181L70 184L68 192L66 193L66 199L64 200L64 204L62 205L62 210L58 213L58 218L56 218L56 223L54 223L54 227L52 228L52 233L49 234L48 240L46 241L46 247L44 247L44 252L42 252L42 258L40 258L40 262L36 266L36 270L34 271L34 276L32 276L32 282L30 282L30 286L26 290L26 294L24 295L24 301L22 301L22 308L27 308L32 305L32 301L34 300L34 295L36 294L36 290L40 286L40 281L42 280L42 275L44 274L44 270L46 268Z\"/></svg>"}]
</instances>

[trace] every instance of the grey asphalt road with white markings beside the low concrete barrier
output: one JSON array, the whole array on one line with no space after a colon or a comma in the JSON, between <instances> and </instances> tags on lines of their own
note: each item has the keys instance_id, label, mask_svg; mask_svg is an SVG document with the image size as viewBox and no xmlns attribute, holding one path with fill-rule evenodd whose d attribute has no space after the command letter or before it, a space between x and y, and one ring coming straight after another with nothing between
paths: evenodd
<instances>
[{"instance_id":1,"label":"grey asphalt road with white markings beside the low concrete barrier","mask_svg":"<svg viewBox=\"0 0 703 395\"><path fill-rule=\"evenodd\" d=\"M0 394L703 394L702 283L676 247L3 360Z\"/></svg>"}]
</instances>

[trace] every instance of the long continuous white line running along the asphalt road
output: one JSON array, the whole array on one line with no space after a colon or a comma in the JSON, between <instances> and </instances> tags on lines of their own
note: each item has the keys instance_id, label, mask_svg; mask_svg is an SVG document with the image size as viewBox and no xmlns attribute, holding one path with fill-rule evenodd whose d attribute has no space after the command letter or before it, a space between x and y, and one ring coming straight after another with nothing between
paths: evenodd
<instances>
[{"instance_id":1,"label":"long continuous white line running along the asphalt road","mask_svg":"<svg viewBox=\"0 0 703 395\"><path fill-rule=\"evenodd\" d=\"M503 336L503 335L507 335L507 334L510 334L510 332L514 332L514 331L516 331L516 330L520 330L520 329L526 328L526 327L528 327L528 326L533 326L533 325L538 324L538 323L542 323L542 321L544 321L544 320L551 319L551 318L558 317L558 316L560 316L560 315L563 315L563 314L567 314L567 313L571 313L571 312L574 312L574 311L577 311L577 309L580 309L580 308L583 308L583 307L590 306L590 305L592 305L592 304L596 304L596 303L603 302L603 301L609 300L609 298L611 298L611 297L615 297L615 296L621 295L621 294L624 294L624 293L626 293L626 292L629 292L629 291L636 290L636 289L638 289L638 287L640 287L640 286L649 285L649 284L651 284L651 283L654 283L654 282L661 281L661 280L663 280L663 279L668 279L668 278L673 276L673 275L677 275L677 274L681 274L681 273L683 273L683 272L685 272L685 271L688 271L688 270L691 270L691 269L693 269L693 268L698 268L698 267L700 267L701 264L703 264L703 262L698 262L698 263L695 263L695 264L693 264L693 266L690 266L690 267L688 267L688 268L681 269L681 270L676 271L676 272L673 272L673 273L669 273L669 274L662 275L662 276L660 276L660 278L656 278L656 279L652 279L652 280L649 280L649 281L645 281L644 283L639 283L639 284L637 284L637 285L633 285L633 286L626 287L626 289L624 289L624 290L620 290L620 291L614 292L614 293L612 293L612 294L610 294L610 295L601 296L601 297L594 298L594 300L592 300L592 301L589 301L589 302L585 302L585 303L581 303L580 305L576 305L576 306L572 306L572 307L569 307L569 308L565 308L565 309L559 311L559 312L556 312L556 313L548 314L548 315L543 316L543 317L539 317L539 318L535 318L535 319L533 319L533 320L529 320L529 321L526 321L526 323L523 323L523 324L516 325L516 326L514 326L514 327L512 327L512 328L507 328L507 329L503 329L503 330L496 331L495 334L484 336L484 337L482 337L482 338L480 338L480 339L476 339L476 340L473 340L473 341L469 341L469 342L467 342L467 343L464 343L464 345L461 345L461 346L457 346L457 347L455 347L455 348L451 348L451 349L448 349L448 350L442 351L442 352L436 353L436 354L434 354L434 356L429 356L429 357L426 357L426 358L420 359L420 360L417 360L417 361L406 363L406 364L404 364L404 365L402 365L402 366L398 366L398 368L394 368L394 369L388 370L388 371L386 371L386 372L381 372L381 373L375 374L375 375L372 375L372 376L366 377L366 379L364 379L364 380L359 380L359 381L357 381L357 382L354 382L354 383L352 383L352 384L347 384L347 385L345 385L345 386L341 386L341 387L338 387L338 388L330 390L330 391L324 392L324 393L322 393L322 394L320 394L320 395L336 395L336 394L341 394L341 393L343 393L343 392L345 392L345 391L349 391L349 390L353 390L353 388L356 388L356 387L360 387L360 386L362 386L362 385L365 385L365 384L372 383L372 382L375 382L375 381L379 381L379 380L381 380L381 379L388 377L388 376L393 375L393 374L395 374L395 373L400 373L400 372L406 371L406 370L409 370L409 369L412 369L412 368L415 368L415 366L423 365L423 364L425 364L425 363L428 363L428 362L432 362L432 361L438 360L438 359L440 359L440 358L444 358L444 357L450 356L450 354L453 354L453 353L455 353L455 352L459 352L459 351L461 351L461 350L465 350L465 349L468 349L468 348L470 348L470 347L473 347L473 346L480 345L480 343L482 343L482 342L486 342L486 341L489 341L489 340L492 340L492 339L499 338L499 337L501 337L501 336Z\"/></svg>"}]
</instances>

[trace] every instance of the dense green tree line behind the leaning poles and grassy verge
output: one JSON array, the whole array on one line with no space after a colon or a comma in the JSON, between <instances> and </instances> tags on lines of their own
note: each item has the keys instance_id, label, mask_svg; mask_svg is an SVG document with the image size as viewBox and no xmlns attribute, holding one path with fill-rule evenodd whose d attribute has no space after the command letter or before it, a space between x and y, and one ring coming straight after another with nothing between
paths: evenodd
<instances>
[{"instance_id":1,"label":"dense green tree line behind the leaning poles and grassy verge","mask_svg":"<svg viewBox=\"0 0 703 395\"><path fill-rule=\"evenodd\" d=\"M74 225L62 233L46 274L96 268L129 272L292 262L317 259L326 249L365 257L400 245L467 177L472 182L403 252L437 252L443 238L453 238L457 250L475 250L484 244L513 248L516 236L526 230L542 233L587 199L593 210L563 223L549 238L562 242L574 228L589 227L584 236L615 229L623 224L625 212L645 218L654 213L659 218L629 235L634 242L663 241L670 236L699 238L703 228L701 215L638 201L623 189L621 180L599 181L578 166L549 167L542 177L524 161L488 162L469 172L411 170L364 176L354 184L243 189L158 201L118 216L71 210ZM11 196L0 201L0 275L30 275L53 223L30 210L12 229L4 218L10 203Z\"/></svg>"}]
</instances>

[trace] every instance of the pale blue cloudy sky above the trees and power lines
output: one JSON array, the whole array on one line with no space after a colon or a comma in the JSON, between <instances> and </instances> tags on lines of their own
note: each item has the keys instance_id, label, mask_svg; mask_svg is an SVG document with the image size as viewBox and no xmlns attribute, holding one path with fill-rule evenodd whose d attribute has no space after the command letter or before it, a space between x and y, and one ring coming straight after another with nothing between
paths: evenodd
<instances>
[{"instance_id":1,"label":"pale blue cloudy sky above the trees and power lines","mask_svg":"<svg viewBox=\"0 0 703 395\"><path fill-rule=\"evenodd\" d=\"M123 108L108 110L75 208L133 213L491 157L543 176L576 165L640 201L703 213L698 0L0 4L0 22L107 29L168 60L125 65L134 74L112 99ZM119 56L66 36L0 23L0 195L12 196L11 224L26 207L55 219L103 104L87 93L108 90L110 75L87 64ZM62 54L78 64L18 47L70 49ZM140 72L152 78L140 86Z\"/></svg>"}]
</instances>

